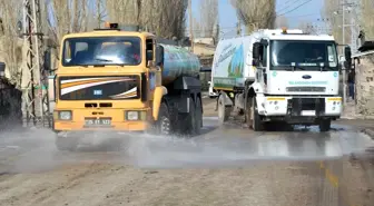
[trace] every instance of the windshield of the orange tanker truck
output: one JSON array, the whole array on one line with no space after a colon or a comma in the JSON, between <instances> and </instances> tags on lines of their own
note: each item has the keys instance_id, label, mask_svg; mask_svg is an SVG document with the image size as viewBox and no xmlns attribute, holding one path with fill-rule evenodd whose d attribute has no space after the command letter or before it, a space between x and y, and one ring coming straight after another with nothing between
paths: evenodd
<instances>
[{"instance_id":1,"label":"windshield of the orange tanker truck","mask_svg":"<svg viewBox=\"0 0 374 206\"><path fill-rule=\"evenodd\" d=\"M136 66L141 62L138 37L82 37L63 42L62 66Z\"/></svg>"}]
</instances>

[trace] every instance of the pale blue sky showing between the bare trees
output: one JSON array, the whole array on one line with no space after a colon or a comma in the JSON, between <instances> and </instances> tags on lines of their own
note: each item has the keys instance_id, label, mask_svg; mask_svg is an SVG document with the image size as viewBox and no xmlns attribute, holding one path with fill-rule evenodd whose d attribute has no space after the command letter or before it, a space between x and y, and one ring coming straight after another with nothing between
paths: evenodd
<instances>
[{"instance_id":1,"label":"pale blue sky showing between the bare trees","mask_svg":"<svg viewBox=\"0 0 374 206\"><path fill-rule=\"evenodd\" d=\"M198 17L200 0L191 0L191 1L193 1L193 16ZM225 33L225 36L236 33L235 27L237 23L237 18L235 9L229 3L229 0L217 0L217 1L219 1L219 26L222 31ZM278 11L277 13L280 14L287 12L285 17L287 17L288 24L291 28L297 27L298 23L302 21L307 22L317 21L321 18L321 11L324 0L312 0L311 2L299 7L298 9L291 11L305 1L306 0L276 0L276 10Z\"/></svg>"}]
</instances>

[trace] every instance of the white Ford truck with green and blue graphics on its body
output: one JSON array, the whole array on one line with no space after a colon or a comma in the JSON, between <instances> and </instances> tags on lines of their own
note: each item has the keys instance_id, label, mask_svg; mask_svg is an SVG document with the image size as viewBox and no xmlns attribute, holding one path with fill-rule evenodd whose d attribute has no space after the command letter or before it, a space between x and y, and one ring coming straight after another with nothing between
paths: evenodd
<instances>
[{"instance_id":1,"label":"white Ford truck with green and blue graphics on its body","mask_svg":"<svg viewBox=\"0 0 374 206\"><path fill-rule=\"evenodd\" d=\"M255 131L268 125L318 125L339 118L337 43L328 35L264 29L218 42L211 85L220 122L232 111Z\"/></svg>"}]
</instances>

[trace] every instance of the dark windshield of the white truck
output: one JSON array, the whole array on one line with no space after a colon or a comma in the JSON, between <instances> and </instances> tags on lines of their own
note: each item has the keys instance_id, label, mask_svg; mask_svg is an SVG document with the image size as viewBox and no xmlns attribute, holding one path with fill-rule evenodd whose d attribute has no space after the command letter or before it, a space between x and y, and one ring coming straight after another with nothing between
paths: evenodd
<instances>
[{"instance_id":1,"label":"dark windshield of the white truck","mask_svg":"<svg viewBox=\"0 0 374 206\"><path fill-rule=\"evenodd\" d=\"M274 40L270 42L272 70L337 70L333 41Z\"/></svg>"}]
</instances>

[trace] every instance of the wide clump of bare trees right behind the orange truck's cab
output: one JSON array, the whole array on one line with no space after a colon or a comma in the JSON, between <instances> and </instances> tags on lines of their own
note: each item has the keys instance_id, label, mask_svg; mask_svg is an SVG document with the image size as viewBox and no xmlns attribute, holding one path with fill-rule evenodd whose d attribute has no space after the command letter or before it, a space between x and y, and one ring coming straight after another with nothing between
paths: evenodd
<instances>
[{"instance_id":1,"label":"wide clump of bare trees right behind the orange truck's cab","mask_svg":"<svg viewBox=\"0 0 374 206\"><path fill-rule=\"evenodd\" d=\"M188 0L107 0L109 19L138 24L164 38L185 35Z\"/></svg>"}]
</instances>

